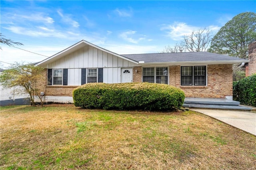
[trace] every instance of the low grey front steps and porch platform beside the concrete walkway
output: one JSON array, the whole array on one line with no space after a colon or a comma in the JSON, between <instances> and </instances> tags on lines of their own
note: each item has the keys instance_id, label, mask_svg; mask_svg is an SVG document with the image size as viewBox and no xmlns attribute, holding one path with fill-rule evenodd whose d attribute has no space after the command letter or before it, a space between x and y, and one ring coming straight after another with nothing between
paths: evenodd
<instances>
[{"instance_id":1,"label":"low grey front steps and porch platform beside the concrete walkway","mask_svg":"<svg viewBox=\"0 0 256 170\"><path fill-rule=\"evenodd\" d=\"M206 109L252 110L250 107L240 106L240 102L238 101L218 98L186 97L182 106Z\"/></svg>"}]
</instances>

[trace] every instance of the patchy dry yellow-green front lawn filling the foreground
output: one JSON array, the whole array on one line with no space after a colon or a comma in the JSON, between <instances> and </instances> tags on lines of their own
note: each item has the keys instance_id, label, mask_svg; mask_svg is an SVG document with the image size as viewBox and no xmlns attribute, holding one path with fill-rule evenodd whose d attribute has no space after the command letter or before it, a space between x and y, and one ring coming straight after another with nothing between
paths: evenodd
<instances>
[{"instance_id":1,"label":"patchy dry yellow-green front lawn filling the foreground","mask_svg":"<svg viewBox=\"0 0 256 170\"><path fill-rule=\"evenodd\" d=\"M200 113L0 111L2 169L255 169L256 137Z\"/></svg>"}]
</instances>

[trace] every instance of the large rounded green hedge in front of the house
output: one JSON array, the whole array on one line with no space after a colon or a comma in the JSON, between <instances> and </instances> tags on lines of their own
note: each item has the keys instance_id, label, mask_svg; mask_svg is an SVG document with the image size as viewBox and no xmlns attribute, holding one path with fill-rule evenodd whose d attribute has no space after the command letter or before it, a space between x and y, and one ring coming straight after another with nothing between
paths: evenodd
<instances>
[{"instance_id":1,"label":"large rounded green hedge in front of the house","mask_svg":"<svg viewBox=\"0 0 256 170\"><path fill-rule=\"evenodd\" d=\"M86 109L167 111L182 106L176 87L156 83L88 83L73 91L74 105Z\"/></svg>"}]
</instances>

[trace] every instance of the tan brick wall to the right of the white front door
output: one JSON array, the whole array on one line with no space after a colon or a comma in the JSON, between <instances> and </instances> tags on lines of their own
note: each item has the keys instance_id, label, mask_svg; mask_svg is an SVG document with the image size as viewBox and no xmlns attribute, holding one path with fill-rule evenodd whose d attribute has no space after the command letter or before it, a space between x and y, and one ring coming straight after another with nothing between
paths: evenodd
<instances>
[{"instance_id":1,"label":"tan brick wall to the right of the white front door","mask_svg":"<svg viewBox=\"0 0 256 170\"><path fill-rule=\"evenodd\" d=\"M142 70L141 68L137 70ZM180 85L180 65L169 66L169 85L178 87L184 91L186 97L211 97L225 98L232 96L232 64L208 65L207 66L207 86L181 86ZM134 73L136 74L136 73ZM140 75L140 77L138 76ZM136 74L136 79L141 82L142 73Z\"/></svg>"}]
</instances>

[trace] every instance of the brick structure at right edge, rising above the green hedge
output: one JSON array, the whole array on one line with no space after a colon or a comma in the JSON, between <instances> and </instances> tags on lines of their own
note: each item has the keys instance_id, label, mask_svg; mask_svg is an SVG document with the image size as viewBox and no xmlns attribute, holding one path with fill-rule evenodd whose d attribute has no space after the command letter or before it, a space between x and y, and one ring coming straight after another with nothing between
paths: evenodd
<instances>
[{"instance_id":1,"label":"brick structure at right edge, rising above the green hedge","mask_svg":"<svg viewBox=\"0 0 256 170\"><path fill-rule=\"evenodd\" d=\"M248 45L248 51L248 59L250 60L248 66L248 76L250 76L256 73L256 42L250 43Z\"/></svg>"}]
</instances>

